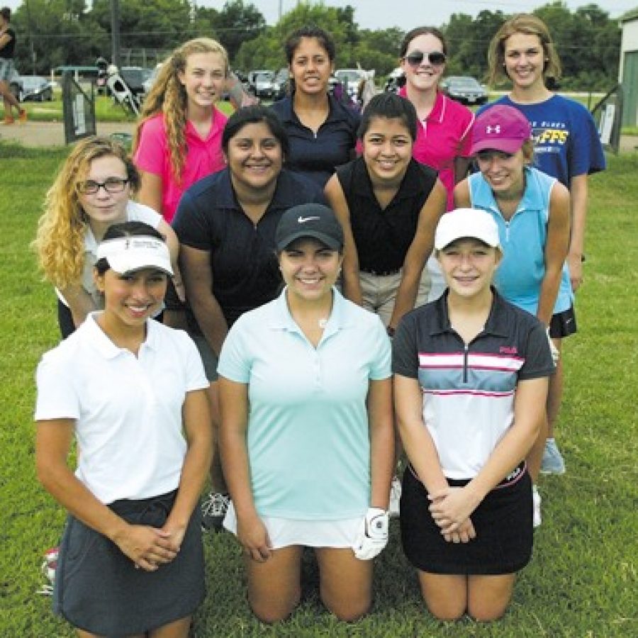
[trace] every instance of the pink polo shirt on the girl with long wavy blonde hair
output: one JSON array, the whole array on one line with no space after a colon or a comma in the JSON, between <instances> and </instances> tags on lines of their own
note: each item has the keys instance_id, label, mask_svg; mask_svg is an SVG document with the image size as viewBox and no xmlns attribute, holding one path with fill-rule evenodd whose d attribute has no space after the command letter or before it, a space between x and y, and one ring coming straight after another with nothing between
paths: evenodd
<instances>
[{"instance_id":1,"label":"pink polo shirt on the girl with long wavy blonde hair","mask_svg":"<svg viewBox=\"0 0 638 638\"><path fill-rule=\"evenodd\" d=\"M140 144L133 161L138 169L162 178L162 216L171 223L181 194L196 181L225 167L221 138L228 118L213 108L213 125L206 139L202 139L194 125L186 122L186 162L181 183L177 184L171 169L171 159L164 125L164 115L158 113L142 126Z\"/></svg>"}]
</instances>

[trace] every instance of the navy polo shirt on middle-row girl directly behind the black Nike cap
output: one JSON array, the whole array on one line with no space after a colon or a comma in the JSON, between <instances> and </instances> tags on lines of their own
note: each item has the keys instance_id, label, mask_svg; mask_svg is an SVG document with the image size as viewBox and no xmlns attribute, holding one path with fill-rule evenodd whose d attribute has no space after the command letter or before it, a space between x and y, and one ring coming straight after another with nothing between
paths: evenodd
<instances>
[{"instance_id":1,"label":"navy polo shirt on middle-row girl directly behind the black Nike cap","mask_svg":"<svg viewBox=\"0 0 638 638\"><path fill-rule=\"evenodd\" d=\"M235 198L229 169L204 177L181 196L173 228L181 244L211 252L213 295L229 326L279 293L275 230L285 211L307 202L325 203L323 191L286 169L256 225Z\"/></svg>"}]
</instances>

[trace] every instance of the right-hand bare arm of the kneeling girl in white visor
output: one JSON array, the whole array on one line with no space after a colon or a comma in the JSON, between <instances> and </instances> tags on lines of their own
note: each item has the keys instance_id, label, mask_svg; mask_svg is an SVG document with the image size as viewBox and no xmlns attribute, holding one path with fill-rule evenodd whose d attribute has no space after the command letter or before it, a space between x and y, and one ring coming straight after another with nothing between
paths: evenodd
<instances>
[{"instance_id":1,"label":"right-hand bare arm of the kneeling girl in white visor","mask_svg":"<svg viewBox=\"0 0 638 638\"><path fill-rule=\"evenodd\" d=\"M169 532L173 547L179 550L186 526L201 494L213 457L213 428L205 390L186 394L181 410L188 448L181 467L179 488L173 509L162 529Z\"/></svg>"}]
</instances>

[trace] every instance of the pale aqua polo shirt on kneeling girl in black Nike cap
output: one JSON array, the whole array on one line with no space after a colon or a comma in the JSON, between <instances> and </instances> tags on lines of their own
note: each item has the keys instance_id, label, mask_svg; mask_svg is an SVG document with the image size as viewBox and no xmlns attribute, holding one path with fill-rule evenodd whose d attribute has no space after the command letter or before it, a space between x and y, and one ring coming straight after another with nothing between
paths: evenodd
<instances>
[{"instance_id":1,"label":"pale aqua polo shirt on kneeling girl in black Nike cap","mask_svg":"<svg viewBox=\"0 0 638 638\"><path fill-rule=\"evenodd\" d=\"M333 289L318 347L286 302L242 315L220 352L220 376L248 384L247 448L262 516L338 520L370 504L366 397L391 376L390 341L379 317Z\"/></svg>"}]
</instances>

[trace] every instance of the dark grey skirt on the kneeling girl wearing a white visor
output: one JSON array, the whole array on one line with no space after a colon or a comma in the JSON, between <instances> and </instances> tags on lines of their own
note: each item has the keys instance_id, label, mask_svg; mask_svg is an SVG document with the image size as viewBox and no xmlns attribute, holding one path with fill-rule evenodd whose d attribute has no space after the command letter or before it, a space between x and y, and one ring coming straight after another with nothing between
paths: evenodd
<instances>
[{"instance_id":1,"label":"dark grey skirt on the kneeling girl wearing a white visor","mask_svg":"<svg viewBox=\"0 0 638 638\"><path fill-rule=\"evenodd\" d=\"M124 520L162 527L177 491L108 507ZM179 554L157 571L133 561L105 536L67 518L55 573L53 610L74 627L106 636L140 634L191 615L203 600L204 565L199 508Z\"/></svg>"}]
</instances>

